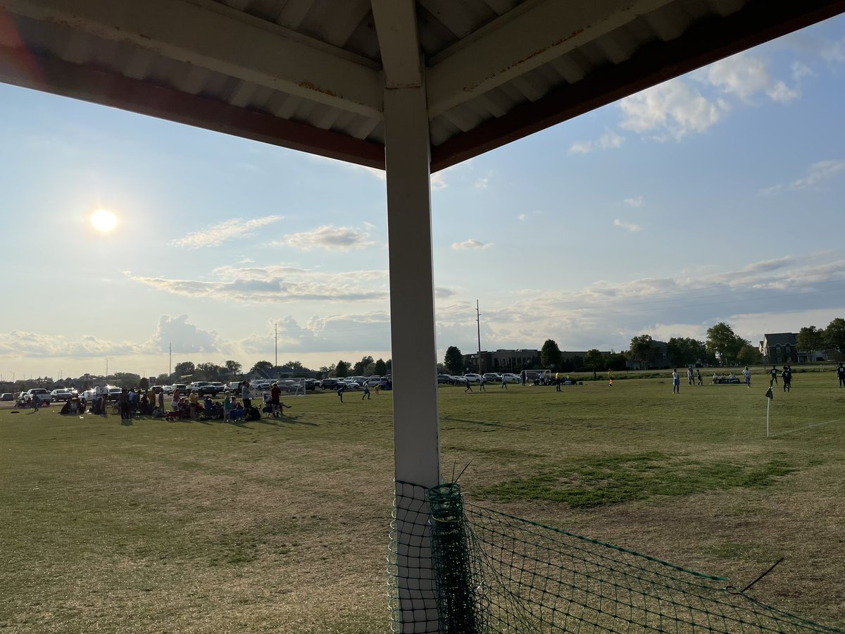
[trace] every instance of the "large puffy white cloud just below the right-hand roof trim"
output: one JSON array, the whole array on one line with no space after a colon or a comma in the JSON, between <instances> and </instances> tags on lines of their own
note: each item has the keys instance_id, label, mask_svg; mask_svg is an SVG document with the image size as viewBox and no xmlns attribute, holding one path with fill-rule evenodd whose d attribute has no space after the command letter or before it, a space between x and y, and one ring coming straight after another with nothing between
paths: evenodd
<instances>
[{"instance_id":1,"label":"large puffy white cloud just below the right-hand roof trim","mask_svg":"<svg viewBox=\"0 0 845 634\"><path fill-rule=\"evenodd\" d=\"M680 140L690 133L703 133L717 123L727 104L708 101L683 79L672 79L625 97L619 107L624 115L622 128L640 134L655 133L658 140Z\"/></svg>"}]
</instances>

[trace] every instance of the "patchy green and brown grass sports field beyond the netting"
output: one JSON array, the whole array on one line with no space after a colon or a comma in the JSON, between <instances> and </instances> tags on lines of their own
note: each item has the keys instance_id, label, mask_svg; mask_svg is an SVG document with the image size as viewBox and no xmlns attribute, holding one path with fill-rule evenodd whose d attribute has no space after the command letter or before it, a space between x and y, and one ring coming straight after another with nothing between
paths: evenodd
<instances>
[{"instance_id":1,"label":"patchy green and brown grass sports field beyond the netting","mask_svg":"<svg viewBox=\"0 0 845 634\"><path fill-rule=\"evenodd\" d=\"M706 381L709 382L709 381ZM442 473L483 506L845 626L845 389L798 373L440 389ZM0 409L0 632L388 631L391 394L248 424ZM472 461L472 462L471 462Z\"/></svg>"}]
</instances>

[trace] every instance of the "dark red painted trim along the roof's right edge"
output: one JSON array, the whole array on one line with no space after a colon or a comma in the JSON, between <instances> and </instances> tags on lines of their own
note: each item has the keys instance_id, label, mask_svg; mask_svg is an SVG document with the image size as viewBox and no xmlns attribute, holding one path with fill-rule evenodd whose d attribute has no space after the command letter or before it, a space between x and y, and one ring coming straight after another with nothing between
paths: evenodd
<instances>
[{"instance_id":1,"label":"dark red painted trim along the roof's right edge","mask_svg":"<svg viewBox=\"0 0 845 634\"><path fill-rule=\"evenodd\" d=\"M706 19L672 41L647 46L623 63L594 71L575 84L446 140L432 148L431 171L842 13L845 0L753 0L735 14Z\"/></svg>"}]
</instances>

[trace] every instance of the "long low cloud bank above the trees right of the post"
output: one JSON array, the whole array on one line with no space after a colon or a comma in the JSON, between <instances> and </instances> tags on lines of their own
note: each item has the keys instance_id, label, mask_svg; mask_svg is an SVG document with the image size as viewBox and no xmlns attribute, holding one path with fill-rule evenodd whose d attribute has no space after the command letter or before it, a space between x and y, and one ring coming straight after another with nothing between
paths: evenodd
<instances>
[{"instance_id":1,"label":"long low cloud bank above the trees right of the post","mask_svg":"<svg viewBox=\"0 0 845 634\"><path fill-rule=\"evenodd\" d=\"M819 264L818 258L783 257L699 276L596 281L574 292L526 289L502 298L499 306L484 307L482 346L539 347L551 337L564 350L620 350L643 333L664 341L703 338L708 327L718 321L733 324L734 316L748 314L750 306L755 316L767 320L771 329L765 331L823 326L845 310L845 260ZM817 314L803 321L809 303ZM439 341L474 349L474 309L474 303L438 303ZM736 331L752 341L763 332Z\"/></svg>"}]
</instances>

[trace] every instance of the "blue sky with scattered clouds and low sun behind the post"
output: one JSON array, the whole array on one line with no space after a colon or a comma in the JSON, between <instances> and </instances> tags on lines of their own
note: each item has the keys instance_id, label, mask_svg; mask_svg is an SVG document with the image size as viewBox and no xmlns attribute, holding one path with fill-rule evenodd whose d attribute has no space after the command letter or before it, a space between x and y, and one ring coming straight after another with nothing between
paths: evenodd
<instances>
[{"instance_id":1,"label":"blue sky with scattered clouds and low sun behind the post","mask_svg":"<svg viewBox=\"0 0 845 634\"><path fill-rule=\"evenodd\" d=\"M845 16L432 179L446 347L845 316ZM384 174L0 85L0 375L390 357ZM90 215L117 227L96 232Z\"/></svg>"}]
</instances>

